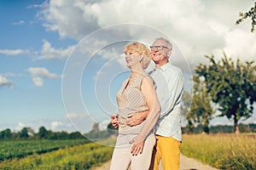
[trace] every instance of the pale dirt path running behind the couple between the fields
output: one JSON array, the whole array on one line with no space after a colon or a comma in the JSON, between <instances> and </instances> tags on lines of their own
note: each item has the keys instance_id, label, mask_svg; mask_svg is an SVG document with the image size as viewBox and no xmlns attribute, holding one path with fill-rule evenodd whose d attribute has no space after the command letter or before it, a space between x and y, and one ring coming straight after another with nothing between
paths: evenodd
<instances>
[{"instance_id":1,"label":"pale dirt path running behind the couple between the fields","mask_svg":"<svg viewBox=\"0 0 256 170\"><path fill-rule=\"evenodd\" d=\"M110 161L102 165L102 167L95 167L92 170L109 170ZM164 170L160 166L160 170ZM217 168L210 167L208 165L202 164L200 161L196 161L193 158L187 156L180 156L180 170L218 170Z\"/></svg>"}]
</instances>

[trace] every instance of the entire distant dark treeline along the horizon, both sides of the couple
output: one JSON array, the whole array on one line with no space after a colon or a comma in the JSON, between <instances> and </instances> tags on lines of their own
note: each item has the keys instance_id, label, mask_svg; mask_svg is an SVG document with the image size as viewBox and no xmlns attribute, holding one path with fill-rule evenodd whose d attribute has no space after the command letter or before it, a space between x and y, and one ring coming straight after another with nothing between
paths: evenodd
<instances>
[{"instance_id":1,"label":"entire distant dark treeline along the horizon, both sides of the couple","mask_svg":"<svg viewBox=\"0 0 256 170\"><path fill-rule=\"evenodd\" d=\"M47 130L45 127L39 127L38 133L34 133L31 127L23 127L19 132L12 132L9 128L0 132L1 140L12 140L12 139L107 139L111 135L117 134L117 129L108 125L107 130L100 131L99 124L95 123L92 130L89 133L81 134L79 132L67 133L53 132ZM193 128L191 132L189 127L183 127L183 133L203 133L204 127L199 125ZM256 133L256 124L239 124L239 130L241 133ZM210 133L234 133L234 127L228 125L218 125L210 127Z\"/></svg>"}]
</instances>

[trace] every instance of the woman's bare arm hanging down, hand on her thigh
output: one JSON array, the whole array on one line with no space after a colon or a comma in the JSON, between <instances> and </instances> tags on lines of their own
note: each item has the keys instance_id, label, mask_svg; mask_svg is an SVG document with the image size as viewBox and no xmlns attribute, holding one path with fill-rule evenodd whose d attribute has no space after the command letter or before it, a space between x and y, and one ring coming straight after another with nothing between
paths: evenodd
<instances>
[{"instance_id":1,"label":"woman's bare arm hanging down, hand on her thigh","mask_svg":"<svg viewBox=\"0 0 256 170\"><path fill-rule=\"evenodd\" d=\"M130 144L134 144L131 153L137 155L143 152L144 140L148 133L152 130L158 117L160 116L160 103L154 90L154 82L151 77L146 76L142 82L142 92L148 105L148 116L145 120L141 132L133 139Z\"/></svg>"}]
</instances>

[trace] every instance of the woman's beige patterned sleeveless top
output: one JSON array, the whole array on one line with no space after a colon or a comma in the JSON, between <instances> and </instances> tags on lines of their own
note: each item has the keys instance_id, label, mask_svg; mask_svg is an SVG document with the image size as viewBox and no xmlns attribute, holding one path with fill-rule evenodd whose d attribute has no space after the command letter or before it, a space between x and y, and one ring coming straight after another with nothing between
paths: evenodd
<instances>
[{"instance_id":1,"label":"woman's beige patterned sleeveless top","mask_svg":"<svg viewBox=\"0 0 256 170\"><path fill-rule=\"evenodd\" d=\"M125 120L128 116L132 116L133 113L149 109L141 88L143 77L146 75L146 73L137 75L128 85L129 79L126 79L116 94L119 106L119 134L137 134L143 127L143 122L137 126L130 127L126 125Z\"/></svg>"}]
</instances>

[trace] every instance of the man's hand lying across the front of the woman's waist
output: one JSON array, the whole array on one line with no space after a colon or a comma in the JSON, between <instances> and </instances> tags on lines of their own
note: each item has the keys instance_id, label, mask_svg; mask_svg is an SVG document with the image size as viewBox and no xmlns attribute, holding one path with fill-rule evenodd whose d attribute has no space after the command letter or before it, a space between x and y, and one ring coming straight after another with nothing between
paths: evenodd
<instances>
[{"instance_id":1,"label":"man's hand lying across the front of the woman's waist","mask_svg":"<svg viewBox=\"0 0 256 170\"><path fill-rule=\"evenodd\" d=\"M134 113L126 119L126 124L130 127L137 126L146 120L149 111L140 111Z\"/></svg>"}]
</instances>

